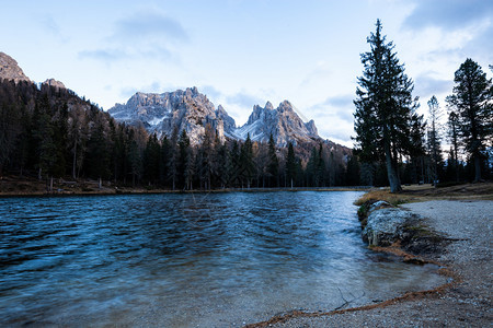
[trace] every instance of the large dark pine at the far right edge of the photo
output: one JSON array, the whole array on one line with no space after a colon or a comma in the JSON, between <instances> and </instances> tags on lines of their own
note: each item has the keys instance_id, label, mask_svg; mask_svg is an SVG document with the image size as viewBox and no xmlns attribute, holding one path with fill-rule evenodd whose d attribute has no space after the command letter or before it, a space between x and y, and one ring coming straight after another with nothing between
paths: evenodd
<instances>
[{"instance_id":1,"label":"large dark pine at the far right edge of the photo","mask_svg":"<svg viewBox=\"0 0 493 328\"><path fill-rule=\"evenodd\" d=\"M454 94L447 102L457 113L460 134L474 161L474 181L482 178L481 166L493 136L492 80L468 58L456 71Z\"/></svg>"}]
</instances>

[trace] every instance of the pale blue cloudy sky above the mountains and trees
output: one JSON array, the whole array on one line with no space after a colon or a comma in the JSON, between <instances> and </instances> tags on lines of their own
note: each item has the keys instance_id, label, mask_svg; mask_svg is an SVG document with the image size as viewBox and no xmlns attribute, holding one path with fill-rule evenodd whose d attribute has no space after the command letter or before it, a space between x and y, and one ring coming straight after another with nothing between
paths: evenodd
<instances>
[{"instance_id":1,"label":"pale blue cloudy sky above the mountains and trees","mask_svg":"<svg viewBox=\"0 0 493 328\"><path fill-rule=\"evenodd\" d=\"M322 138L352 147L360 54L377 19L440 107L472 58L493 75L492 0L0 0L0 51L35 82L54 78L104 109L139 92L197 86L237 126L288 99Z\"/></svg>"}]
</instances>

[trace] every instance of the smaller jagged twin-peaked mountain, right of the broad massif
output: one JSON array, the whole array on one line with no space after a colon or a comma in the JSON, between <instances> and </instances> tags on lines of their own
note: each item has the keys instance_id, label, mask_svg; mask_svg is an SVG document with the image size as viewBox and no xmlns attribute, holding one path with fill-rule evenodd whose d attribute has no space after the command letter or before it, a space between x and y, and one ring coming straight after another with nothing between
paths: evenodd
<instances>
[{"instance_id":1,"label":"smaller jagged twin-peaked mountain, right of the broad massif","mask_svg":"<svg viewBox=\"0 0 493 328\"><path fill-rule=\"evenodd\" d=\"M320 140L314 121L303 122L288 101L280 103L277 108L271 102L265 107L253 106L246 124L233 130L233 136L242 140L248 133L252 140L265 142L272 133L277 147L286 147L288 142L297 144Z\"/></svg>"}]
</instances>

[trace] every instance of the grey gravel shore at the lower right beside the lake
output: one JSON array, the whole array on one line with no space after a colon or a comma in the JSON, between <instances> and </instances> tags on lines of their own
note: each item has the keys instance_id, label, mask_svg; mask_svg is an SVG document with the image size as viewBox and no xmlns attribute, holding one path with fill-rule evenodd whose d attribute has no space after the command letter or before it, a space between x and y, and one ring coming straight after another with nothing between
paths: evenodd
<instances>
[{"instance_id":1,"label":"grey gravel shore at the lower right beside the lake","mask_svg":"<svg viewBox=\"0 0 493 328\"><path fill-rule=\"evenodd\" d=\"M493 201L434 200L402 206L449 241L426 255L458 279L444 292L398 301L372 309L319 317L295 316L270 327L491 327Z\"/></svg>"}]
</instances>

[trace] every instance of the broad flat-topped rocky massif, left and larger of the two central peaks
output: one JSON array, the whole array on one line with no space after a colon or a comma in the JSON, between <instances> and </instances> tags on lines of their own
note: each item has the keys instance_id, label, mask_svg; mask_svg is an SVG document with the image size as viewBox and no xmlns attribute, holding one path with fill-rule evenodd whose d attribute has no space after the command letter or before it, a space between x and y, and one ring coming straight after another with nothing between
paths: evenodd
<instances>
[{"instance_id":1,"label":"broad flat-topped rocky massif, left and larger of the two central peaks","mask_svg":"<svg viewBox=\"0 0 493 328\"><path fill-rule=\"evenodd\" d=\"M230 131L236 126L222 106L216 109L196 87L162 94L138 92L126 104L110 108L108 113L118 121L141 122L158 137L171 137L174 127L179 131L186 130L193 144L202 141L207 125L217 131L220 139L225 139L225 134L231 136Z\"/></svg>"}]
</instances>

